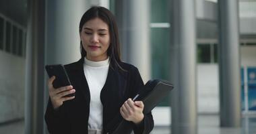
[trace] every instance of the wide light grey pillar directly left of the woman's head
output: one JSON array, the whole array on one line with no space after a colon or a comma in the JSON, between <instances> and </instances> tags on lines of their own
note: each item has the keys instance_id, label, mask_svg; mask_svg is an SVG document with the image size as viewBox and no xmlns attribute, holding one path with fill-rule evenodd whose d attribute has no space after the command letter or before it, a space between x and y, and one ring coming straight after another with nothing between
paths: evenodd
<instances>
[{"instance_id":1,"label":"wide light grey pillar directly left of the woman's head","mask_svg":"<svg viewBox=\"0 0 256 134\"><path fill-rule=\"evenodd\" d=\"M92 5L98 5L98 0L46 0L46 46L45 64L69 64L81 58L79 21L82 15ZM44 76L44 111L48 103L49 92ZM44 133L47 133L44 125Z\"/></svg>"}]
</instances>

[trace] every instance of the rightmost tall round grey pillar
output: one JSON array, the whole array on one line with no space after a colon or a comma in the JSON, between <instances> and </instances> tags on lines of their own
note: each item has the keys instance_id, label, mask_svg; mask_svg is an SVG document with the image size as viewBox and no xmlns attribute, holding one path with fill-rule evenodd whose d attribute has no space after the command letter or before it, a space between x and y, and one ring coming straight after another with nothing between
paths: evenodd
<instances>
[{"instance_id":1,"label":"rightmost tall round grey pillar","mask_svg":"<svg viewBox=\"0 0 256 134\"><path fill-rule=\"evenodd\" d=\"M220 126L241 126L238 0L218 1Z\"/></svg>"}]
</instances>

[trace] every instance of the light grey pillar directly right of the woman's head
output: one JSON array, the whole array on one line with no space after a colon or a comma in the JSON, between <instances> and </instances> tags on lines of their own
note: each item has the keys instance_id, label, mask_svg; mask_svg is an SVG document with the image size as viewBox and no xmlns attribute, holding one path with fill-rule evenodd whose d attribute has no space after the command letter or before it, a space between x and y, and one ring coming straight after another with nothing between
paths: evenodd
<instances>
[{"instance_id":1,"label":"light grey pillar directly right of the woman's head","mask_svg":"<svg viewBox=\"0 0 256 134\"><path fill-rule=\"evenodd\" d=\"M151 76L150 3L147 0L120 0L115 4L122 59L137 66L146 82Z\"/></svg>"}]
</instances>

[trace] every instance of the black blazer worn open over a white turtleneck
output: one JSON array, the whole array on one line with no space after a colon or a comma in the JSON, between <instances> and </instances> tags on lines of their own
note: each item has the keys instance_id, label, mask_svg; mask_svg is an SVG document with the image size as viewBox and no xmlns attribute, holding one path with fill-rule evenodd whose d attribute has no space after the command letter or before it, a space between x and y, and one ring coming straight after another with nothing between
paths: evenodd
<instances>
[{"instance_id":1,"label":"black blazer worn open over a white turtleneck","mask_svg":"<svg viewBox=\"0 0 256 134\"><path fill-rule=\"evenodd\" d=\"M125 100L133 98L143 86L139 71L135 66L120 62L121 70L110 63L106 82L100 92L103 105L103 133L111 133L123 119L119 113ZM90 90L84 76L84 59L65 65L65 69L75 88L75 98L67 100L57 111L53 109L51 100L46 109L44 119L49 133L80 134L88 133L90 111ZM133 123L132 123L133 124ZM152 114L144 116L140 125L133 124L135 134L150 133L154 127Z\"/></svg>"}]
</instances>

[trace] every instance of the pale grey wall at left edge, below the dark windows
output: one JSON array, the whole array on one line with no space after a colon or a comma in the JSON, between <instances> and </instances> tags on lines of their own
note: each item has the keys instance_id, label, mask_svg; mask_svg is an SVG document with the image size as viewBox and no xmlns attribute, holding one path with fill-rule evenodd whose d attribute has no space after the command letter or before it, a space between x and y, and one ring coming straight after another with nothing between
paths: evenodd
<instances>
[{"instance_id":1,"label":"pale grey wall at left edge, below the dark windows","mask_svg":"<svg viewBox=\"0 0 256 134\"><path fill-rule=\"evenodd\" d=\"M25 58L0 50L0 123L24 117Z\"/></svg>"}]
</instances>

